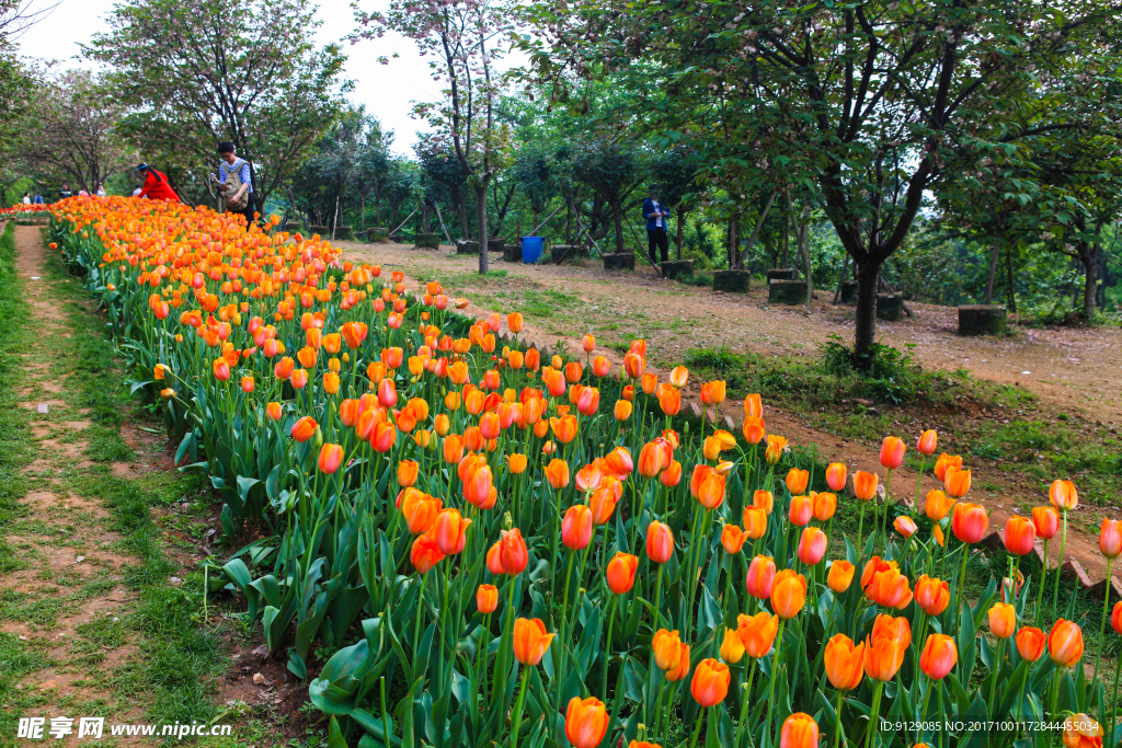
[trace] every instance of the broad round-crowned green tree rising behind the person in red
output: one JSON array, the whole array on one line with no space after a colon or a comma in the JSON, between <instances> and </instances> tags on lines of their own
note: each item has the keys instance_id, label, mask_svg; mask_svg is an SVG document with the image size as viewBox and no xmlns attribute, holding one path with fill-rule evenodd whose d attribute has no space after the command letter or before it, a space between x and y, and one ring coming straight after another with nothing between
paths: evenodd
<instances>
[{"instance_id":1,"label":"broad round-crowned green tree rising behind the person in red","mask_svg":"<svg viewBox=\"0 0 1122 748\"><path fill-rule=\"evenodd\" d=\"M313 151L341 107L344 61L316 49L311 0L121 0L84 53L111 66L121 132L169 173L249 161L257 209ZM149 160L155 160L149 157Z\"/></svg>"}]
</instances>

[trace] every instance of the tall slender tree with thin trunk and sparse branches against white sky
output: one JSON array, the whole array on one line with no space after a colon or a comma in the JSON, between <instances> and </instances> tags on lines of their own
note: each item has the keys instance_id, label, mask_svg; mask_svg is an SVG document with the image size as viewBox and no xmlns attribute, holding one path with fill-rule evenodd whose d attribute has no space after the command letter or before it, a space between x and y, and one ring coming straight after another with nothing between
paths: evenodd
<instances>
[{"instance_id":1,"label":"tall slender tree with thin trunk and sparse branches against white sky","mask_svg":"<svg viewBox=\"0 0 1122 748\"><path fill-rule=\"evenodd\" d=\"M433 80L448 87L441 102L421 102L414 111L451 142L476 193L479 273L487 273L487 192L508 165L511 128L496 120L503 76L497 39L511 30L512 9L490 0L390 0L385 12L361 12L361 38L387 30L413 39L422 55L433 55ZM383 62L388 62L383 58Z\"/></svg>"}]
</instances>

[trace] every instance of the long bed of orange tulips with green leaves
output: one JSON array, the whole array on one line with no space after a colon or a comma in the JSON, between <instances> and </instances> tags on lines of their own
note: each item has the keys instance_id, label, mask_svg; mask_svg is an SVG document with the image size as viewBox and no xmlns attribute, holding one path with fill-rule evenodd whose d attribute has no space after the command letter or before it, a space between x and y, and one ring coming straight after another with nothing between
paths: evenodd
<instances>
[{"instance_id":1,"label":"long bed of orange tulips with green leaves","mask_svg":"<svg viewBox=\"0 0 1122 748\"><path fill-rule=\"evenodd\" d=\"M1015 583L965 598L988 517L960 458L930 461L945 490L926 516L890 524L880 477L816 470L758 396L738 435L683 419L689 372L659 381L642 341L613 371L591 340L526 348L517 314L467 320L438 284L275 223L53 210L134 390L163 398L177 459L221 497L240 547L211 589L245 595L297 676L313 646L334 653L310 683L330 745L1102 745L1087 713L1115 745L1116 689L1097 656L1088 677L1070 612L1041 615L1055 589L1011 563ZM892 483L904 451L885 438L890 497L911 489ZM1076 501L1057 481L1052 507L1011 520L1011 558L1063 546ZM1104 554L1120 546L1104 525Z\"/></svg>"}]
</instances>

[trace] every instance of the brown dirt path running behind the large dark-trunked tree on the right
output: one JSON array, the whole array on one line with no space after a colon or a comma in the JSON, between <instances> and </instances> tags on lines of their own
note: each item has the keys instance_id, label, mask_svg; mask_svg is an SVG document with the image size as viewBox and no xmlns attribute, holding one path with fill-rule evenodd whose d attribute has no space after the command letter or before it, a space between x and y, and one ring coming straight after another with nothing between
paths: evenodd
<instances>
[{"instance_id":1,"label":"brown dirt path running behind the large dark-trunked tree on the right","mask_svg":"<svg viewBox=\"0 0 1122 748\"><path fill-rule=\"evenodd\" d=\"M456 257L447 247L431 251L405 244L340 244L356 259L378 262L387 269L406 268L417 278L454 277L458 293L476 292L477 296L491 296L498 302L526 284L574 296L574 303L554 310L548 323L537 320L543 333L555 339L595 332L604 343L643 335L657 363L670 363L687 349L701 345L727 345L765 354L812 354L831 334L847 340L853 336L853 307L830 305L833 289L818 292L819 305L813 315L807 315L801 307L769 306L767 290L758 285L744 296L715 293L660 280L645 266L634 274L619 274L605 271L595 261L577 266L523 265L495 261L493 256L491 268L506 271L507 277L480 280L470 277L478 259ZM563 297L554 298L564 303ZM549 304L550 297L544 301ZM916 358L925 366L967 369L995 382L1015 382L1057 409L1093 422L1122 425L1122 360L1105 354L1122 350L1122 330L1018 329L1014 335L1000 340L962 338L956 334L958 317L954 307L910 306L914 318L879 321L877 333L898 348L916 345ZM583 310L601 321L617 316L617 327L589 330L595 324L594 315L582 314ZM629 320L641 327L633 329Z\"/></svg>"}]
</instances>

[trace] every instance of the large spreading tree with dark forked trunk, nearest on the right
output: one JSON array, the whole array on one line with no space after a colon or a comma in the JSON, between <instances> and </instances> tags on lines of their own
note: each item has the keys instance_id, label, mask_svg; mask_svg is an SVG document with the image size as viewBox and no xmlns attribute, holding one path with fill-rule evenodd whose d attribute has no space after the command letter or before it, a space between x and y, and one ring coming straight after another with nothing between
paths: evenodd
<instances>
[{"instance_id":1,"label":"large spreading tree with dark forked trunk, nearest on the right","mask_svg":"<svg viewBox=\"0 0 1122 748\"><path fill-rule=\"evenodd\" d=\"M1017 127L1015 104L1045 73L1122 31L1116 2L1061 4L590 0L536 6L531 21L551 44L524 47L559 98L571 72L626 74L673 102L646 110L666 144L688 135L711 170L754 161L812 194L857 267L855 353L867 368L881 268L925 192L985 145L1079 127L1059 110Z\"/></svg>"}]
</instances>

